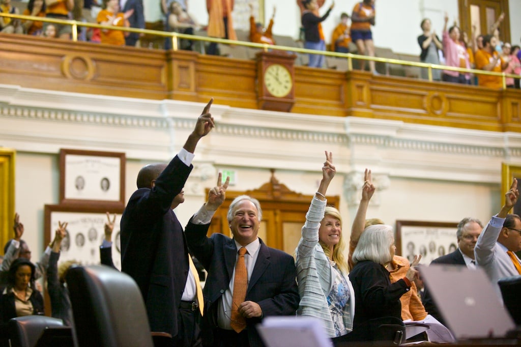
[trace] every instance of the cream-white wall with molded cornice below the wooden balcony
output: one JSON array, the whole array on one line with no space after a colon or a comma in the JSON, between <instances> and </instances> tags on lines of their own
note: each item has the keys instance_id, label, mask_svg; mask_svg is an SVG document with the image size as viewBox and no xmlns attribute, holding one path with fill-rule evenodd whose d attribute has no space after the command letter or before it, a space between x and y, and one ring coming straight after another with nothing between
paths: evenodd
<instances>
[{"instance_id":1,"label":"cream-white wall with molded cornice below the wooden balcony","mask_svg":"<svg viewBox=\"0 0 521 347\"><path fill-rule=\"evenodd\" d=\"M44 205L58 204L60 148L125 152L128 200L141 167L175 155L203 106L0 85L0 139L17 151L16 210L33 259L45 248ZM51 112L31 114L29 109ZM197 146L186 201L176 210L182 224L204 203L204 191L214 186L221 169L237 170L231 190L261 187L273 168L290 190L313 194L324 150L334 153L337 177L329 194L340 195L346 237L366 167L373 169L378 189L369 217L391 225L396 219L458 221L466 216L486 222L501 204L501 163L521 163L519 133L225 105L214 105L212 114L217 128ZM126 121L129 117L132 121Z\"/></svg>"}]
</instances>

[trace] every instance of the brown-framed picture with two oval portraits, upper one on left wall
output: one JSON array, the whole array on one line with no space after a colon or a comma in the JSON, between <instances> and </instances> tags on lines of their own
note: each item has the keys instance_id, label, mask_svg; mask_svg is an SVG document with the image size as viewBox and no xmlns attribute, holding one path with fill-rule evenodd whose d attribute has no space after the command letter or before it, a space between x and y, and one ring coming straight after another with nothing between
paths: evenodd
<instances>
[{"instance_id":1,"label":"brown-framed picture with two oval portraits, upper one on left wall","mask_svg":"<svg viewBox=\"0 0 521 347\"><path fill-rule=\"evenodd\" d=\"M60 204L125 205L125 153L60 150Z\"/></svg>"}]
</instances>

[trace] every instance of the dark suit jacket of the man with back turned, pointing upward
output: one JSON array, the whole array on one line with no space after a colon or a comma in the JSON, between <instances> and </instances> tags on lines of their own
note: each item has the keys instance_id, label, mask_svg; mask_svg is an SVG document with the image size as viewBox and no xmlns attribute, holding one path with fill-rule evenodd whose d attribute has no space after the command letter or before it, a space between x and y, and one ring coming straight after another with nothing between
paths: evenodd
<instances>
[{"instance_id":1,"label":"dark suit jacket of the man with back turned, pointing upward","mask_svg":"<svg viewBox=\"0 0 521 347\"><path fill-rule=\"evenodd\" d=\"M178 307L187 281L188 248L171 209L193 166L176 156L153 189L132 194L121 216L121 270L139 286L152 331L178 334ZM209 225L191 225L206 233Z\"/></svg>"}]
</instances>

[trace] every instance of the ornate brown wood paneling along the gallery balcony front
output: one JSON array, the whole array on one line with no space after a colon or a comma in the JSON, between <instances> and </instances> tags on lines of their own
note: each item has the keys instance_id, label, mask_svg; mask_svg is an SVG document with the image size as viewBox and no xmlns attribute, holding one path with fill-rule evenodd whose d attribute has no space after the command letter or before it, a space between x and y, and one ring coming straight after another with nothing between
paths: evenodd
<instances>
[{"instance_id":1,"label":"ornate brown wood paneling along the gallery balcony front","mask_svg":"<svg viewBox=\"0 0 521 347\"><path fill-rule=\"evenodd\" d=\"M254 60L0 35L0 83L257 108ZM295 67L293 113L521 131L518 90Z\"/></svg>"}]
</instances>

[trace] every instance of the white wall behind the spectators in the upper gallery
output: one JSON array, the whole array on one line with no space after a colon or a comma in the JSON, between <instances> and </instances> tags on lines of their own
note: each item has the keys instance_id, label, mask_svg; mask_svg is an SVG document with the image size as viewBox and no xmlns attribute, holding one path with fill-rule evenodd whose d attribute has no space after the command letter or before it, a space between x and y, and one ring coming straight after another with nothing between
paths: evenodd
<instances>
[{"instance_id":1,"label":"white wall behind the spectators in the upper gallery","mask_svg":"<svg viewBox=\"0 0 521 347\"><path fill-rule=\"evenodd\" d=\"M152 0L154 3L157 0ZM324 14L333 0L326 0L320 13ZM337 0L329 18L323 22L326 40L329 42L330 33L337 26L340 14L351 11L358 0ZM274 33L289 35L297 38L299 34L300 13L296 6L296 0L265 0L266 17L271 16L273 6L277 6ZM511 14L521 13L521 1L510 0ZM206 2L202 0L190 0L190 13L200 23L207 23ZM430 18L433 29L440 34L443 29L443 17L445 12L450 20L459 18L457 0L377 0L376 1L376 26L373 28L375 45L378 47L392 48L396 53L419 54L416 38L421 34L419 27L423 18ZM521 36L521 22L513 15L510 17L511 36L515 44L519 44Z\"/></svg>"}]
</instances>

